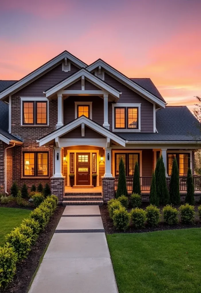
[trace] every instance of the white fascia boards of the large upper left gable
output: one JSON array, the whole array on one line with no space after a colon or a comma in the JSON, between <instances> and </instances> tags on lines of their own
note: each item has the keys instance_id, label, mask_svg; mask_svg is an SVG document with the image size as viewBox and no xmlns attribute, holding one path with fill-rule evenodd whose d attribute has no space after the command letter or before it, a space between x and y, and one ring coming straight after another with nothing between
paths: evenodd
<instances>
[{"instance_id":1,"label":"white fascia boards of the large upper left gable","mask_svg":"<svg viewBox=\"0 0 201 293\"><path fill-rule=\"evenodd\" d=\"M15 84L9 86L9 88L6 88L4 91L2 91L0 93L0 99L5 98L6 96L8 96L10 94L13 94L14 92L18 91L19 88L23 88L24 86L29 84L31 81L33 81L33 79L37 79L39 76L43 75L43 73L45 73L45 71L47 71L51 67L55 66L58 62L62 61L65 57L67 57L67 59L69 59L70 61L75 63L78 67L85 68L87 66L87 64L85 64L81 60L77 59L75 56L73 56L69 52L64 51L63 53L59 54L55 58L51 59L50 61L48 61L47 63L45 63L41 67L39 67L38 69L34 70L33 72L31 72L30 74L25 76L23 79L19 80Z\"/></svg>"}]
</instances>

